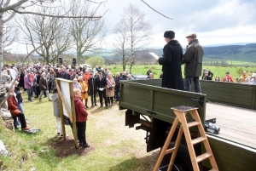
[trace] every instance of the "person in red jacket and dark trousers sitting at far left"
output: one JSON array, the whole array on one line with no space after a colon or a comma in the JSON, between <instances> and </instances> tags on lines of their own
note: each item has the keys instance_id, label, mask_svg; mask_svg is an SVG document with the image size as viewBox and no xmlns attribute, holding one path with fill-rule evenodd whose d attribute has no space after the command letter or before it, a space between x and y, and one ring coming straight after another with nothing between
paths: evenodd
<instances>
[{"instance_id":1,"label":"person in red jacket and dark trousers sitting at far left","mask_svg":"<svg viewBox=\"0 0 256 171\"><path fill-rule=\"evenodd\" d=\"M6 88L6 91L9 92L9 97L7 99L7 103L8 103L8 110L10 111L13 119L14 119L14 124L16 123L16 117L20 117L20 124L21 124L21 129L22 130L28 130L30 128L26 127L26 118L24 116L24 113L22 113L19 110L18 107L18 103L17 103L17 99L16 99L16 94L15 94L15 87L12 88L11 90L8 88ZM15 128L17 128L16 124L15 124Z\"/></svg>"}]
</instances>

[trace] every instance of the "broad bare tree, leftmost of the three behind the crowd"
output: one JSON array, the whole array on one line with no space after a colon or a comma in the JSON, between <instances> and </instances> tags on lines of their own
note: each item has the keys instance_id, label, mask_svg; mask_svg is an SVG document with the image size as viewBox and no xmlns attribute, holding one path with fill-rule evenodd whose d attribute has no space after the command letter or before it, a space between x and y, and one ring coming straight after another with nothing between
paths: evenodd
<instances>
[{"instance_id":1,"label":"broad bare tree, leftmost of the three behind the crowd","mask_svg":"<svg viewBox=\"0 0 256 171\"><path fill-rule=\"evenodd\" d=\"M59 15L61 9L37 8L41 14ZM20 29L25 33L26 40L36 48L38 44L44 44L36 50L45 62L51 63L57 60L60 54L72 48L72 41L68 34L67 19L50 18L44 15L23 14Z\"/></svg>"}]
</instances>

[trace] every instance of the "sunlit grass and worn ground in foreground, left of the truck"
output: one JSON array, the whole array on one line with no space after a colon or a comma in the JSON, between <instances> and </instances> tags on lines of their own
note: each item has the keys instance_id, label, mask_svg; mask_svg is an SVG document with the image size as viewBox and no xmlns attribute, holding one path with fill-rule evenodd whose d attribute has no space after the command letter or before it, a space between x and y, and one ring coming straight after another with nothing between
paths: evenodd
<instances>
[{"instance_id":1,"label":"sunlit grass and worn ground in foreground, left of the truck","mask_svg":"<svg viewBox=\"0 0 256 171\"><path fill-rule=\"evenodd\" d=\"M26 94L23 94L26 101ZM89 104L90 105L90 104ZM1 167L6 170L148 170L148 161L152 160L151 153L146 153L144 132L138 137L132 138L135 129L125 127L125 111L119 111L118 105L108 110L98 107L91 108L87 122L86 136L93 151L86 156L73 154L68 157L56 157L55 149L51 146L57 139L55 131L55 117L53 116L52 102L47 98L39 103L34 99L33 103L23 103L26 119L30 128L40 128L38 134L24 134L12 132L3 128L0 121L1 140L10 152L9 157L0 157L3 162ZM67 134L71 134L71 128L66 126ZM137 140L138 139L138 140ZM64 149L65 150L65 149ZM143 154L143 157L139 157ZM157 156L154 153L154 156ZM155 159L156 160L156 159ZM154 161L155 162L155 161ZM0 162L1 163L1 162ZM149 167L149 168L148 168ZM151 167L151 168L150 168Z\"/></svg>"}]
</instances>

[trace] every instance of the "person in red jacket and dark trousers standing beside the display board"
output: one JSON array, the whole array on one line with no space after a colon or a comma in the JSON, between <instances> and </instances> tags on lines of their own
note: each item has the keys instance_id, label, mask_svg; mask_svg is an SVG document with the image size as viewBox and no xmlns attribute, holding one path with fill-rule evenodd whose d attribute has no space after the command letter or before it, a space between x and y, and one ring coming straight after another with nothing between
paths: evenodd
<instances>
[{"instance_id":1,"label":"person in red jacket and dark trousers standing beside the display board","mask_svg":"<svg viewBox=\"0 0 256 171\"><path fill-rule=\"evenodd\" d=\"M74 105L76 111L76 125L78 130L79 145L83 148L90 147L86 142L85 130L88 113L85 111L83 101L81 100L81 90L79 88L73 89Z\"/></svg>"}]
</instances>

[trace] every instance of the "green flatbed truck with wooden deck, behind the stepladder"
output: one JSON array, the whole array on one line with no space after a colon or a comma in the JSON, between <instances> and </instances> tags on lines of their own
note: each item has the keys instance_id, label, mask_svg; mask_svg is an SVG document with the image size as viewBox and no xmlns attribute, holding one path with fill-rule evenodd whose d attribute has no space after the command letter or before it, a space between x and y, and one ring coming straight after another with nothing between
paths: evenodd
<instances>
[{"instance_id":1,"label":"green flatbed truck with wooden deck, behind the stepladder","mask_svg":"<svg viewBox=\"0 0 256 171\"><path fill-rule=\"evenodd\" d=\"M136 125L137 129L146 131L147 151L158 149L164 144L166 134L175 118L171 107L178 105L198 107L202 123L206 121L207 107L210 107L208 113L212 114L209 115L217 116L217 124L218 117L222 119L220 123L223 123L220 125L219 134L207 134L219 170L256 170L255 85L201 81L202 94L197 94L161 88L160 84L161 79L120 83L119 109L127 109L125 126L132 128ZM210 104L207 100L214 103ZM192 121L192 118L187 119ZM193 138L198 136L195 128L192 128L190 133ZM175 140L174 136L170 148ZM193 170L186 147L185 141L182 140L175 161L179 170ZM195 146L195 149L198 156L204 151L201 145ZM171 156L164 158L161 166L168 163L169 157ZM209 162L201 162L201 169L206 168L210 169Z\"/></svg>"}]
</instances>

